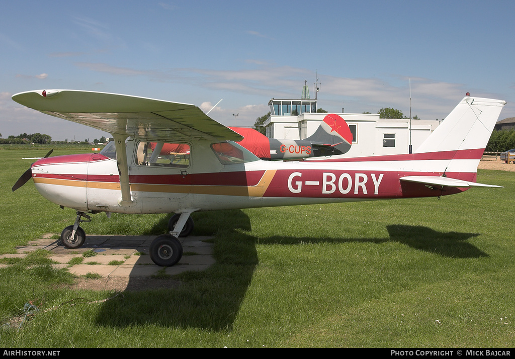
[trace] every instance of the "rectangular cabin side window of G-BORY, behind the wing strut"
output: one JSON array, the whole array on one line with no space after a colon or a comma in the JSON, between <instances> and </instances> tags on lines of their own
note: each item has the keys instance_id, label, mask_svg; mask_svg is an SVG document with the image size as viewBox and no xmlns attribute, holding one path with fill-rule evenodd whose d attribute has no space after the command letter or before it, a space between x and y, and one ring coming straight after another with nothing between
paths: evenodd
<instances>
[{"instance_id":1,"label":"rectangular cabin side window of G-BORY, behind the wing strut","mask_svg":"<svg viewBox=\"0 0 515 359\"><path fill-rule=\"evenodd\" d=\"M190 165L190 145L141 141L134 162L139 166L186 168Z\"/></svg>"}]
</instances>

